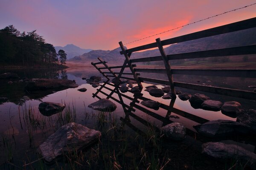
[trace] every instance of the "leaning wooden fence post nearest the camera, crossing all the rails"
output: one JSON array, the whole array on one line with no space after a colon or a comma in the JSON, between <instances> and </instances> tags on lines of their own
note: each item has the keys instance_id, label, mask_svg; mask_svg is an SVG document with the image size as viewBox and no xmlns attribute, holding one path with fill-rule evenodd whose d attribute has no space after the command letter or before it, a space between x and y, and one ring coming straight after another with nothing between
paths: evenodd
<instances>
[{"instance_id":1,"label":"leaning wooden fence post nearest the camera, crossing all the rails","mask_svg":"<svg viewBox=\"0 0 256 170\"><path fill-rule=\"evenodd\" d=\"M174 83L173 83L173 78L172 78L172 69L171 69L171 65L169 63L168 57L166 56L164 50L163 50L163 45L161 43L160 38L156 39L157 42L157 47L163 57L163 62L164 62L164 66L166 68L166 74L167 77L169 79L169 83L170 83L170 87L171 87L171 92L172 92L172 97L176 98L176 92L175 92L175 88L174 88Z\"/></svg>"}]
</instances>

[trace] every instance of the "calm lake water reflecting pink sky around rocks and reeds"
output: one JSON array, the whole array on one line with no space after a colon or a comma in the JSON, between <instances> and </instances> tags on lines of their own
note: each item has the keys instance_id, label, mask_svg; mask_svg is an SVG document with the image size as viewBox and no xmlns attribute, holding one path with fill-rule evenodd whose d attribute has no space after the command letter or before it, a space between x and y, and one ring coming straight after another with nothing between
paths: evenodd
<instances>
[{"instance_id":1,"label":"calm lake water reflecting pink sky around rocks and reeds","mask_svg":"<svg viewBox=\"0 0 256 170\"><path fill-rule=\"evenodd\" d=\"M6 71L2 71L6 72ZM2 73L1 72L1 73ZM41 102L59 102L59 103L65 103L66 106L70 106L71 108L76 109L76 117L73 118L73 121L86 125L89 128L96 128L96 122L93 119L90 119L90 116L88 118L88 115L94 114L96 111L93 111L92 109L88 108L87 106L90 103L93 103L98 100L97 97L92 97L93 94L97 92L97 89L100 88L93 88L90 84L87 84L85 80L82 80L82 77L89 78L90 76L96 75L100 76L99 73L96 71L96 69L92 68L89 71L84 71L83 69L70 69L66 71L37 71L37 70L12 70L12 72L16 72L21 78L27 77L27 78L55 78L55 79L71 79L76 80L76 83L79 85L78 88L70 88L63 91L47 91L47 92L41 92L37 94L27 94L24 89L24 82L19 81L20 79L14 79L12 80L13 83L9 85L7 82L9 80L0 80L0 97L7 97L6 100L0 101L0 133L1 133L1 145L0 147L3 147L3 136L9 137L9 140L12 141L12 147L13 147L13 161L15 164L23 164L24 155L27 157L32 156L35 153L35 150L37 149L38 145L40 145L44 140L47 139L49 135L54 133L54 131L60 126L58 124L55 124L55 120L58 119L58 114L52 115L52 116L43 116L38 111L38 105ZM159 78L159 77L158 77ZM229 78L223 78L219 79L219 81L214 81L216 79L212 79L209 77L197 77L193 78L191 76L189 77L177 77L176 79L186 79L186 81L193 81L193 83L212 83L212 85L223 85L228 87L233 86L243 86L244 89L247 89L248 85L253 85L252 79L234 79L232 78L232 81ZM229 81L230 80L230 81ZM103 79L101 82L105 81ZM177 80L178 81L178 80ZM231 82L231 84L229 84ZM236 82L235 84L233 82ZM101 83L103 85L103 83ZM143 83L143 87L151 85ZM107 88L113 89L114 87L111 85L106 84L106 88L102 89L103 93L110 94L111 91ZM158 88L162 88L163 85L157 85ZM86 92L80 92L77 91L79 88L87 88ZM202 109L194 109L191 107L189 101L182 101L178 97L174 101L171 99L162 99L162 98L156 98L153 96L150 96L148 92L144 91L145 88L143 88L142 96L136 96L134 94L131 94L130 92L125 93L122 96L123 102L130 106L133 102L130 98L135 98L139 101L139 103L136 103L134 105L135 111L132 112L135 114L135 116L130 115L128 116L130 119L130 124L133 127L136 127L139 130L145 129L145 122L150 122L154 124L157 127L162 127L163 125L168 124L168 121L173 122L180 122L183 123L188 129L189 132L192 134L195 132L195 129L192 127L193 125L198 125L199 123L203 123L207 120L216 120L216 119L228 119L228 120L234 120L236 121L236 118L232 118L229 116L226 116L221 113L221 111L214 112L214 111L204 111ZM196 91L192 90L185 90L185 89L178 89L183 92L189 92L191 94L197 93ZM106 98L107 96L99 92L97 96L99 98ZM122 94L122 93L121 93ZM221 100L224 101L239 101L241 102L241 105L243 108L256 108L256 102L245 100L245 99L236 99L221 95L213 95L213 94L207 94L211 99ZM128 97L127 97L128 96ZM117 119L119 121L124 120L127 118L127 115L125 115L125 112L123 110L123 106L120 102L120 96L117 93L114 93L112 96L112 101L117 105L116 111L113 112L114 115L116 115ZM162 108L159 108L159 110L155 111L150 108L146 108L145 106L141 105L140 102L143 99L152 99L155 101L158 101L162 104ZM172 102L172 103L171 103ZM174 104L173 104L174 103ZM172 110L172 112L166 110L168 109L169 105L172 105L175 108L175 110ZM29 114L28 110L31 110L34 119L35 120L44 120L45 122L45 128L42 130L40 128L35 128L33 130L28 129L26 127L26 115ZM179 119L170 118L167 119L166 122L165 117L168 115L176 115L179 116ZM185 116L184 116L185 114ZM189 115L189 116L186 116ZM189 119L188 119L189 117ZM141 119L144 120L141 121ZM34 123L42 123L42 122L34 122ZM42 125L43 126L43 125ZM125 126L125 129L129 133L134 133L134 128L127 125ZM32 137L31 137L32 136ZM251 144L246 145L246 147L249 150L254 151L255 147ZM6 161L6 151L1 149L0 152L0 164L2 164ZM6 168L6 167L5 167Z\"/></svg>"}]
</instances>

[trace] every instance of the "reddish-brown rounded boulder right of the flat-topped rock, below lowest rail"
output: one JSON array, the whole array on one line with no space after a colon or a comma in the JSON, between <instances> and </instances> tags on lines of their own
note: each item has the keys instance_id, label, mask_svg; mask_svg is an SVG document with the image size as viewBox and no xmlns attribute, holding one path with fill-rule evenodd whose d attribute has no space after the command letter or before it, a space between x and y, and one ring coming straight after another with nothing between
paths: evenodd
<instances>
[{"instance_id":1,"label":"reddish-brown rounded boulder right of the flat-topped rock, below lowest rail","mask_svg":"<svg viewBox=\"0 0 256 170\"><path fill-rule=\"evenodd\" d=\"M239 102L224 102L224 105L221 107L222 113L228 114L238 114L240 113L242 107Z\"/></svg>"}]
</instances>

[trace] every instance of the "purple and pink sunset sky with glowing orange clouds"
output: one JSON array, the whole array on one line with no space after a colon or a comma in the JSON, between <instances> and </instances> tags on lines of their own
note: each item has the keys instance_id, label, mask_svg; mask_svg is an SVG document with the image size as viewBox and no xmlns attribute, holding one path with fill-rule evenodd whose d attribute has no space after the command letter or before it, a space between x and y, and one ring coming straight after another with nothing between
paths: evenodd
<instances>
[{"instance_id":1,"label":"purple and pink sunset sky with glowing orange clouds","mask_svg":"<svg viewBox=\"0 0 256 170\"><path fill-rule=\"evenodd\" d=\"M111 50L123 44L256 3L255 0L0 0L0 29L37 30L54 46ZM256 17L256 5L128 45L139 45Z\"/></svg>"}]
</instances>

